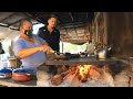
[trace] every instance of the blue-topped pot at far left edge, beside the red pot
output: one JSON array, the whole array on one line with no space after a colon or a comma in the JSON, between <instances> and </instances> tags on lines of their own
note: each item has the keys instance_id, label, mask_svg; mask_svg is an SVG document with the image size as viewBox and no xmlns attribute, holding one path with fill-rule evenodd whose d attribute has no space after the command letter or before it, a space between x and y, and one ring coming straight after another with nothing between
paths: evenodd
<instances>
[{"instance_id":1,"label":"blue-topped pot at far left edge, beside the red pot","mask_svg":"<svg viewBox=\"0 0 133 99\"><path fill-rule=\"evenodd\" d=\"M10 78L12 76L12 69L3 67L0 69L0 78Z\"/></svg>"}]
</instances>

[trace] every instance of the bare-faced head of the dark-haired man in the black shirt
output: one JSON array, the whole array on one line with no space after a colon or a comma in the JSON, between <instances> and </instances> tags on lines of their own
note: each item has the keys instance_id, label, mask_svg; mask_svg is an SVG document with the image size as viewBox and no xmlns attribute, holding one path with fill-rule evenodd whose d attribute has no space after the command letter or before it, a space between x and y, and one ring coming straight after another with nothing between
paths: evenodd
<instances>
[{"instance_id":1,"label":"bare-faced head of the dark-haired man in the black shirt","mask_svg":"<svg viewBox=\"0 0 133 99\"><path fill-rule=\"evenodd\" d=\"M48 20L48 25L53 29L55 28L57 23L58 23L58 16L54 14L51 14Z\"/></svg>"}]
</instances>

